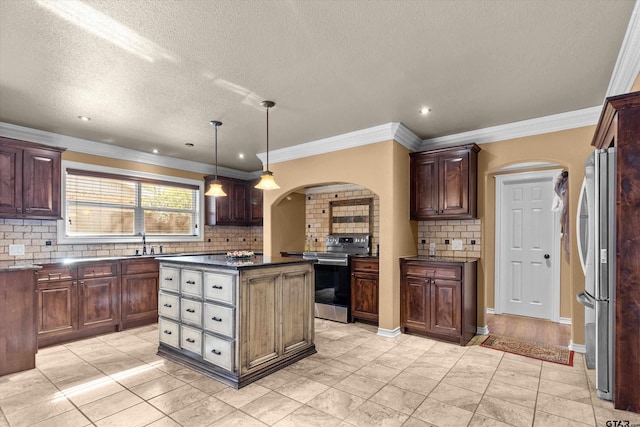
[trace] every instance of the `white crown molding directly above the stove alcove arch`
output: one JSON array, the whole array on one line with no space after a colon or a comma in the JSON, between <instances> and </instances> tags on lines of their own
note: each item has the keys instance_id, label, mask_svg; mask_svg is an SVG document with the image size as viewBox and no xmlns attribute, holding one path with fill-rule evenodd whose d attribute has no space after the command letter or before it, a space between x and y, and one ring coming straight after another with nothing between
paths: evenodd
<instances>
[{"instance_id":1,"label":"white crown molding directly above the stove alcove arch","mask_svg":"<svg viewBox=\"0 0 640 427\"><path fill-rule=\"evenodd\" d=\"M269 151L269 162L280 163L389 140L394 140L412 151L416 151L422 143L422 140L404 124L389 122L342 135ZM266 152L258 153L257 156L262 161L262 164L266 163Z\"/></svg>"}]
</instances>

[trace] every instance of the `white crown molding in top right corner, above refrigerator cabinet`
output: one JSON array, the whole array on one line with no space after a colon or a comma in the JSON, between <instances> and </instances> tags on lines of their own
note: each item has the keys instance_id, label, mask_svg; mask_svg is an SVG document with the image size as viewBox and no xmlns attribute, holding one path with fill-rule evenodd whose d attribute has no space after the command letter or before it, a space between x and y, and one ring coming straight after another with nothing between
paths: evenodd
<instances>
[{"instance_id":1,"label":"white crown molding in top right corner, above refrigerator cabinet","mask_svg":"<svg viewBox=\"0 0 640 427\"><path fill-rule=\"evenodd\" d=\"M636 0L629 25L618 52L607 97L627 93L640 74L640 1Z\"/></svg>"}]
</instances>

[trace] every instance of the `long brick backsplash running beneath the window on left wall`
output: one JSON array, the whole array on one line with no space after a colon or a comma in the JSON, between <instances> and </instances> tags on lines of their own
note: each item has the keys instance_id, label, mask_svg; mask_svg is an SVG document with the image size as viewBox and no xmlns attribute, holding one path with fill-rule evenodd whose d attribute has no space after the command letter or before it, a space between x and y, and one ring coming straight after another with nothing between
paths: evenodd
<instances>
[{"instance_id":1,"label":"long brick backsplash running beneath the window on left wall","mask_svg":"<svg viewBox=\"0 0 640 427\"><path fill-rule=\"evenodd\" d=\"M87 245L57 244L57 221L0 219L0 261L57 260L67 257L133 255L142 251L142 243L103 243ZM51 246L46 246L50 241ZM162 243L163 253L224 252L228 250L262 251L262 227L205 226L203 242ZM25 255L9 256L9 245L25 245ZM147 244L148 250L159 243Z\"/></svg>"}]
</instances>

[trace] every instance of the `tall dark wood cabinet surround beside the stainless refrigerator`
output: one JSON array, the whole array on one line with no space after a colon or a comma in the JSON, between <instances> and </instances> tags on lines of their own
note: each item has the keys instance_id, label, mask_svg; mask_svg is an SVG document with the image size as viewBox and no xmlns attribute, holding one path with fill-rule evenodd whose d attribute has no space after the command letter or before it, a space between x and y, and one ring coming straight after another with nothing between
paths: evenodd
<instances>
[{"instance_id":1,"label":"tall dark wood cabinet surround beside the stainless refrigerator","mask_svg":"<svg viewBox=\"0 0 640 427\"><path fill-rule=\"evenodd\" d=\"M640 92L607 98L591 143L616 148L616 409L640 412Z\"/></svg>"}]
</instances>

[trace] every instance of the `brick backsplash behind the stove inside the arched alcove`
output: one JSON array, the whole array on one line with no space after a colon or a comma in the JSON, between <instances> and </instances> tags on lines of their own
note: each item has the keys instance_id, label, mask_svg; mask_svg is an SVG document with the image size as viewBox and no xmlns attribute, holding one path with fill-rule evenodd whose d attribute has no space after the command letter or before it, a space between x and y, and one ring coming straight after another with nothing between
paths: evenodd
<instances>
[{"instance_id":1,"label":"brick backsplash behind the stove inside the arched alcove","mask_svg":"<svg viewBox=\"0 0 640 427\"><path fill-rule=\"evenodd\" d=\"M329 202L336 200L366 199L373 198L373 230L369 230L369 221L334 223L333 233L369 233L371 234L371 251L375 253L376 245L380 241L380 199L370 190L346 190L332 191L327 193L307 194L305 203L305 220L307 237L311 237L312 251L326 251L325 238L329 234ZM335 216L367 216L368 206L336 206L333 213Z\"/></svg>"}]
</instances>

